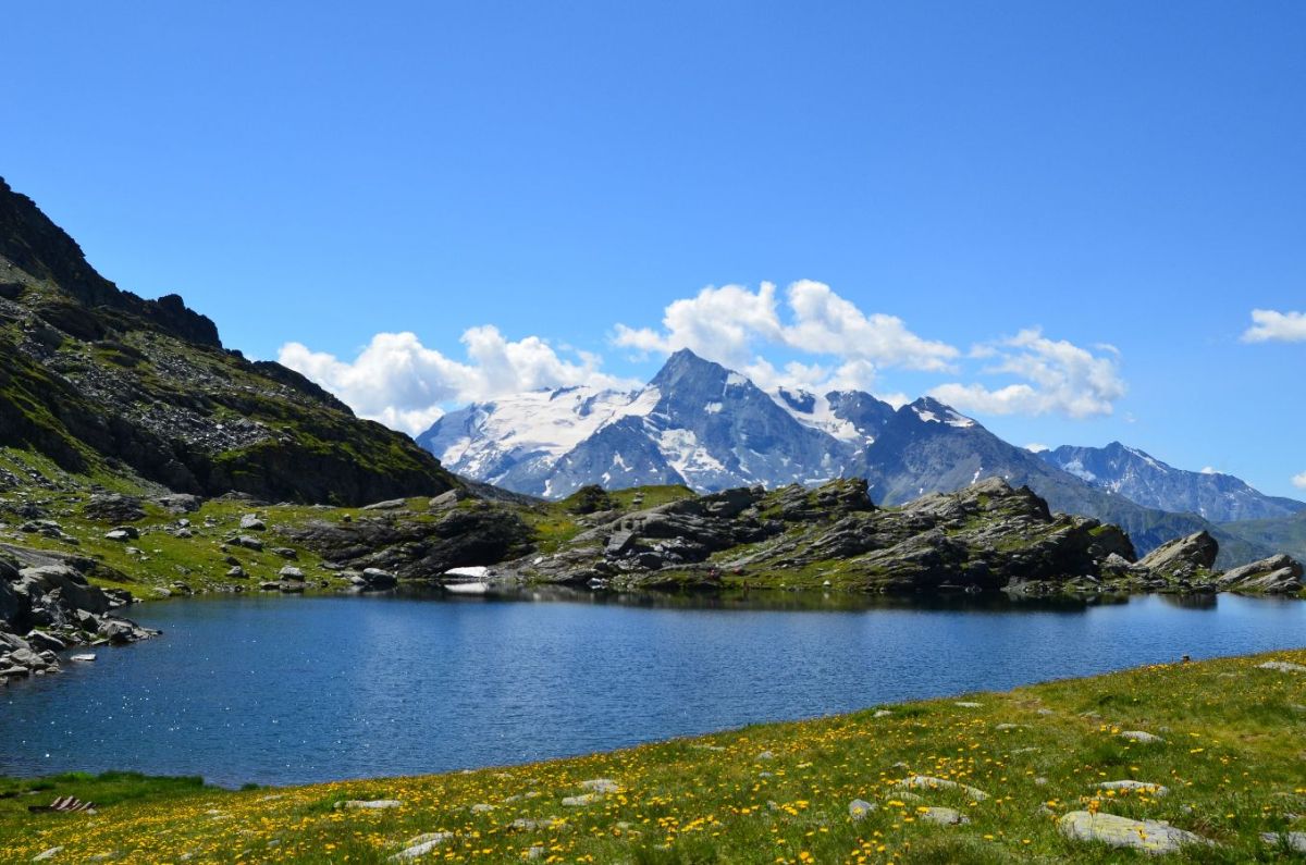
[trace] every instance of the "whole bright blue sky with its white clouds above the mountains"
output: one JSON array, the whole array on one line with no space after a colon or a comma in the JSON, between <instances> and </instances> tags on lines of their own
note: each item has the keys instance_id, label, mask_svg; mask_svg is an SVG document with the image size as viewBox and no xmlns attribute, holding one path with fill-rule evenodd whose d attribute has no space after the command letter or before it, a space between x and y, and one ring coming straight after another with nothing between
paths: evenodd
<instances>
[{"instance_id":1,"label":"whole bright blue sky with its white clouds above the mountains","mask_svg":"<svg viewBox=\"0 0 1306 865\"><path fill-rule=\"evenodd\" d=\"M0 174L398 425L691 345L1306 495L1306 5L814 5L13 4Z\"/></svg>"}]
</instances>

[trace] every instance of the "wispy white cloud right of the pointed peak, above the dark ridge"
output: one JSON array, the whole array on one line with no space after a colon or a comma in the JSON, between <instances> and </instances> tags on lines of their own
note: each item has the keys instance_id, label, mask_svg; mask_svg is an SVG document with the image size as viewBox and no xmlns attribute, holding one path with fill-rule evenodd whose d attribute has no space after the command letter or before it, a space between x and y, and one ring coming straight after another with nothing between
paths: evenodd
<instances>
[{"instance_id":1,"label":"wispy white cloud right of the pointed peak, above the dark ridge","mask_svg":"<svg viewBox=\"0 0 1306 865\"><path fill-rule=\"evenodd\" d=\"M1011 375L1024 382L995 389L978 383L948 383L930 395L961 410L1087 418L1111 414L1115 400L1126 391L1117 351L1093 354L1066 340L1049 340L1038 328L978 346L972 357L990 361L985 374Z\"/></svg>"}]
</instances>

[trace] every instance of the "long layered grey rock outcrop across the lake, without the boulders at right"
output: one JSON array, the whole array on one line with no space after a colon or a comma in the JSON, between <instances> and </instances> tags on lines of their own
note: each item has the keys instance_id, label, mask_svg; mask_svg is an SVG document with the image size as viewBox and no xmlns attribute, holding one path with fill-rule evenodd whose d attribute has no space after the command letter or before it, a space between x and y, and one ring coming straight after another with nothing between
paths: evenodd
<instances>
[{"instance_id":1,"label":"long layered grey rock outcrop across the lake, without the boulders at right","mask_svg":"<svg viewBox=\"0 0 1306 865\"><path fill-rule=\"evenodd\" d=\"M998 478L901 510L875 508L866 482L853 480L816 490L727 490L627 514L508 570L525 580L620 587L712 585L722 575L802 580L828 571L870 591L996 591L1097 583L1113 557L1135 558L1118 528L1053 515L1028 489Z\"/></svg>"}]
</instances>

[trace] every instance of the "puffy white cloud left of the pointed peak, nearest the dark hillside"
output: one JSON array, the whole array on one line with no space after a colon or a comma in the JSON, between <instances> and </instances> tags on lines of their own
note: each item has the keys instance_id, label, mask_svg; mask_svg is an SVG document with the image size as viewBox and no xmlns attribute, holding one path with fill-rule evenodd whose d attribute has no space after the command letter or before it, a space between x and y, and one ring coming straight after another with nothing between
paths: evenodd
<instances>
[{"instance_id":1,"label":"puffy white cloud left of the pointed peak, nearest the dark hillside","mask_svg":"<svg viewBox=\"0 0 1306 865\"><path fill-rule=\"evenodd\" d=\"M601 372L597 355L579 351L576 361L567 361L535 336L513 342L495 327L477 327L462 335L462 342L466 363L423 346L414 333L377 333L353 361L287 342L278 361L338 396L359 416L411 434L434 423L444 413L441 404L542 387L635 385Z\"/></svg>"}]
</instances>

